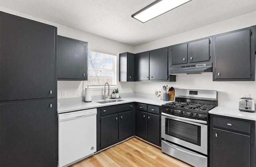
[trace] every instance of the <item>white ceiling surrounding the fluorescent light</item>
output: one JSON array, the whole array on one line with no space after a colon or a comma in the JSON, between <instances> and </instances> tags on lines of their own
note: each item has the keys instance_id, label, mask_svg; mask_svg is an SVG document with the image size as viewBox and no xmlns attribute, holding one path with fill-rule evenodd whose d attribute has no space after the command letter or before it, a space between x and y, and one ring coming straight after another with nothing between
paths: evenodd
<instances>
[{"instance_id":1,"label":"white ceiling surrounding the fluorescent light","mask_svg":"<svg viewBox=\"0 0 256 167\"><path fill-rule=\"evenodd\" d=\"M192 0L146 23L131 17L154 0L0 0L0 6L138 46L256 10L256 0Z\"/></svg>"}]
</instances>

